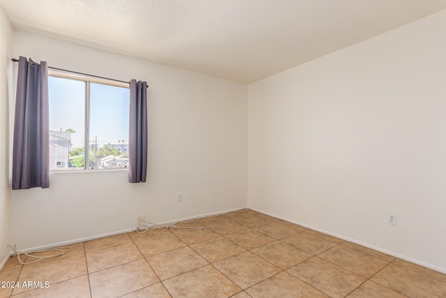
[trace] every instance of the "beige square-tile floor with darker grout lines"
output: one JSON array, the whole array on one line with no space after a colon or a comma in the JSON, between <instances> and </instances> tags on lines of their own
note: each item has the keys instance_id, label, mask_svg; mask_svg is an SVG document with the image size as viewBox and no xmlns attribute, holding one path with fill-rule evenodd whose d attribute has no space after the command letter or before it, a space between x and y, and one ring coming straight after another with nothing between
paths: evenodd
<instances>
[{"instance_id":1,"label":"beige square-tile floor with darker grout lines","mask_svg":"<svg viewBox=\"0 0 446 298\"><path fill-rule=\"evenodd\" d=\"M33 265L12 257L0 281L21 286L0 298L446 297L446 274L252 210L178 226L202 229L86 241Z\"/></svg>"}]
</instances>

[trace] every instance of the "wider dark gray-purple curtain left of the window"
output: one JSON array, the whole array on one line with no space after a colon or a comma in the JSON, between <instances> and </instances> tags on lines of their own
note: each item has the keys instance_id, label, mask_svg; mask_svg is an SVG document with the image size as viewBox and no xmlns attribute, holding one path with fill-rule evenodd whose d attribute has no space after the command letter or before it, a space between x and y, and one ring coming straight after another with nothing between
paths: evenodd
<instances>
[{"instance_id":1,"label":"wider dark gray-purple curtain left of the window","mask_svg":"<svg viewBox=\"0 0 446 298\"><path fill-rule=\"evenodd\" d=\"M13 189L49 187L48 68L19 59L13 143Z\"/></svg>"}]
</instances>

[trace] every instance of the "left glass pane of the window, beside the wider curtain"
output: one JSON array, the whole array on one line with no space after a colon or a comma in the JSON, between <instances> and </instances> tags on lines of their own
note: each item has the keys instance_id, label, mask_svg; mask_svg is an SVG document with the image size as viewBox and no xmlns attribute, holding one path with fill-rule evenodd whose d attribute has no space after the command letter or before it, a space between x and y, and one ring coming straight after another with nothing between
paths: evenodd
<instances>
[{"instance_id":1,"label":"left glass pane of the window, beside the wider curtain","mask_svg":"<svg viewBox=\"0 0 446 298\"><path fill-rule=\"evenodd\" d=\"M84 169L85 82L48 77L49 168Z\"/></svg>"}]
</instances>

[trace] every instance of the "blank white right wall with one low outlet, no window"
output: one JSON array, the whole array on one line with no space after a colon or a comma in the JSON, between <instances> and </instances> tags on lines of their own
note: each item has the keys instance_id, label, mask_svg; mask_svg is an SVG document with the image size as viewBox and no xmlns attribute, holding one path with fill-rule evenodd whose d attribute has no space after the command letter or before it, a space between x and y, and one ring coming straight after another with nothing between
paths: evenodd
<instances>
[{"instance_id":1,"label":"blank white right wall with one low outlet, no window","mask_svg":"<svg viewBox=\"0 0 446 298\"><path fill-rule=\"evenodd\" d=\"M445 28L446 10L250 84L248 206L446 272Z\"/></svg>"}]
</instances>

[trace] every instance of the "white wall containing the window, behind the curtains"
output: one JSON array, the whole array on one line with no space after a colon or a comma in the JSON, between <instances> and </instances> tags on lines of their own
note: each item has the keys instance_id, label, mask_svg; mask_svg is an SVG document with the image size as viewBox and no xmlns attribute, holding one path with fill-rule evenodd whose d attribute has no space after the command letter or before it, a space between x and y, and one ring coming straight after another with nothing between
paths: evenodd
<instances>
[{"instance_id":1,"label":"white wall containing the window, behind the curtains","mask_svg":"<svg viewBox=\"0 0 446 298\"><path fill-rule=\"evenodd\" d=\"M12 193L11 244L47 246L247 206L247 87L62 40L15 31L15 57L148 82L148 181L127 172L51 174ZM176 202L176 193L183 202Z\"/></svg>"}]
</instances>

